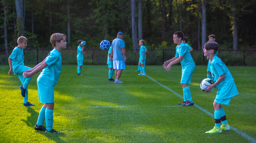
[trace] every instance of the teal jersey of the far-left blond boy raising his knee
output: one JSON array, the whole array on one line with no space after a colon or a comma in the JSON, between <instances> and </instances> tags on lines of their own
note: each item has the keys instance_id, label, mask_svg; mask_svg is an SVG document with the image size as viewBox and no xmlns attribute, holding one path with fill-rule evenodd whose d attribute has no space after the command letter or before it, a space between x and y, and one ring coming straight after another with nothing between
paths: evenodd
<instances>
[{"instance_id":1,"label":"teal jersey of the far-left blond boy raising his knee","mask_svg":"<svg viewBox=\"0 0 256 143\"><path fill-rule=\"evenodd\" d=\"M9 58L12 59L12 71L14 74L16 74L17 72L19 72L19 66L24 65L23 49L15 47Z\"/></svg>"}]
</instances>

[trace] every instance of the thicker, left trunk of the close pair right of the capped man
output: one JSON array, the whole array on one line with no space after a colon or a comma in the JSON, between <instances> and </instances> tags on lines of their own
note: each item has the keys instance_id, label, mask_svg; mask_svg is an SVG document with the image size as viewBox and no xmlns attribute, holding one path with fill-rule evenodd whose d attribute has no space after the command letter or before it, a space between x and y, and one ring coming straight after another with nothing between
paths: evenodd
<instances>
[{"instance_id":1,"label":"thicker, left trunk of the close pair right of the capped man","mask_svg":"<svg viewBox=\"0 0 256 143\"><path fill-rule=\"evenodd\" d=\"M137 42L137 27L136 27L136 3L135 0L131 0L131 16L132 16L132 44L133 49L138 49ZM136 52L134 50L134 52Z\"/></svg>"}]
</instances>

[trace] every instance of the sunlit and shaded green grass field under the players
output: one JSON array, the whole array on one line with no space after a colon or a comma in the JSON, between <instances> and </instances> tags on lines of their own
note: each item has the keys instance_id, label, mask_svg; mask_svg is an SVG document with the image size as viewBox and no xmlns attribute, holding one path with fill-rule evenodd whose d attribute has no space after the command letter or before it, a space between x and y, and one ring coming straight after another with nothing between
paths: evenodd
<instances>
[{"instance_id":1,"label":"sunlit and shaded green grass field under the players","mask_svg":"<svg viewBox=\"0 0 256 143\"><path fill-rule=\"evenodd\" d=\"M206 66L196 66L192 75L195 106L182 107L176 105L183 97L179 65L169 72L146 66L148 76L138 76L137 66L126 66L123 84L108 82L106 65L84 65L83 76L76 75L76 65L63 65L53 113L53 128L61 134L49 135L34 130L43 106L37 93L39 73L28 88L29 102L36 106L24 107L18 76L8 75L9 66L1 65L0 142L256 142L256 67L228 68L239 91L230 105L223 105L232 130L206 134L214 127L217 92L207 94L199 87Z\"/></svg>"}]
</instances>

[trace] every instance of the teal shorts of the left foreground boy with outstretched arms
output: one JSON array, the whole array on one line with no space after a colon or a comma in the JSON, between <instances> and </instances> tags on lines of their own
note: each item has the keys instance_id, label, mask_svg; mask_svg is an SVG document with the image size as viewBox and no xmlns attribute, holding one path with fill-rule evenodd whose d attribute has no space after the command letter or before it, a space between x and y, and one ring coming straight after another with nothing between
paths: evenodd
<instances>
[{"instance_id":1,"label":"teal shorts of the left foreground boy with outstretched arms","mask_svg":"<svg viewBox=\"0 0 256 143\"><path fill-rule=\"evenodd\" d=\"M38 99L41 103L54 103L54 86L46 86L37 79Z\"/></svg>"}]
</instances>

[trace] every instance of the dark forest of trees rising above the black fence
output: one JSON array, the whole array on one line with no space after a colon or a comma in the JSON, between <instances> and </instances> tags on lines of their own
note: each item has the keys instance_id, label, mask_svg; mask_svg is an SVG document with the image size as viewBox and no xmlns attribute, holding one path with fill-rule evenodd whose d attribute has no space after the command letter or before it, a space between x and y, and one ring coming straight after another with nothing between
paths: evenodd
<instances>
[{"instance_id":1,"label":"dark forest of trees rising above the black fence","mask_svg":"<svg viewBox=\"0 0 256 143\"><path fill-rule=\"evenodd\" d=\"M99 48L101 40L125 35L125 47L174 49L173 33L182 31L193 49L202 49L210 34L221 49L254 49L256 0L0 0L0 48L14 48L28 38L27 48L51 48L52 33L67 35L67 48L77 40ZM5 52L8 52L6 50ZM2 52L1 52L2 53ZM10 54L10 53L5 53Z\"/></svg>"}]
</instances>

